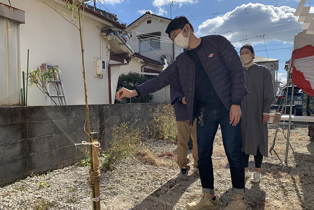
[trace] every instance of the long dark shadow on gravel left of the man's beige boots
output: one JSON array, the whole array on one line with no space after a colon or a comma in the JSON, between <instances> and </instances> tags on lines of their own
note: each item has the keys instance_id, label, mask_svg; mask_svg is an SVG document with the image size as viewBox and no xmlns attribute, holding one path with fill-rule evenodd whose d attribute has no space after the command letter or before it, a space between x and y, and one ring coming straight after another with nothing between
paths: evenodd
<instances>
[{"instance_id":1,"label":"long dark shadow on gravel left of the man's beige boots","mask_svg":"<svg viewBox=\"0 0 314 210\"><path fill-rule=\"evenodd\" d=\"M187 188L198 179L199 176L192 173L187 181L180 180L178 177L170 180L130 210L173 209ZM169 190L164 191L165 188Z\"/></svg>"}]
</instances>

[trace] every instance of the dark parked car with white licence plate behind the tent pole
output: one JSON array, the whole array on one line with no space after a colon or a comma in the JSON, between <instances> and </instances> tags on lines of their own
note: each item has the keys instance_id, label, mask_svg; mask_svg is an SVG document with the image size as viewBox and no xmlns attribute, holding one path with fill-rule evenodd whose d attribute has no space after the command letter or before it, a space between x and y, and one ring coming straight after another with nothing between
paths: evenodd
<instances>
[{"instance_id":1,"label":"dark parked car with white licence plate behind the tent pole","mask_svg":"<svg viewBox=\"0 0 314 210\"><path fill-rule=\"evenodd\" d=\"M292 86L288 87L288 94L287 94L287 87L284 87L284 90L282 91L282 93L276 96L277 98L276 105L284 105L284 101L287 97L287 105L289 106L287 106L286 114L289 114L289 110L290 110L291 91L292 91ZM293 93L293 104L292 104L292 107L293 107L292 114L295 116L302 116L302 97L301 97L302 92L303 91L295 85L294 93Z\"/></svg>"}]
</instances>

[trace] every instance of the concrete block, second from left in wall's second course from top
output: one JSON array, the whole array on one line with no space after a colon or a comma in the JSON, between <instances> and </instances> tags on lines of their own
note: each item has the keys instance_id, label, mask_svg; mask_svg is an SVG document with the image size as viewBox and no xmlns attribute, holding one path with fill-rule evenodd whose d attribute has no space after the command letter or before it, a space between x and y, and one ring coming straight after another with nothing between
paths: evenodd
<instances>
[{"instance_id":1,"label":"concrete block, second from left in wall's second course from top","mask_svg":"<svg viewBox=\"0 0 314 210\"><path fill-rule=\"evenodd\" d=\"M27 138L53 135L53 120L45 120L27 123Z\"/></svg>"}]
</instances>

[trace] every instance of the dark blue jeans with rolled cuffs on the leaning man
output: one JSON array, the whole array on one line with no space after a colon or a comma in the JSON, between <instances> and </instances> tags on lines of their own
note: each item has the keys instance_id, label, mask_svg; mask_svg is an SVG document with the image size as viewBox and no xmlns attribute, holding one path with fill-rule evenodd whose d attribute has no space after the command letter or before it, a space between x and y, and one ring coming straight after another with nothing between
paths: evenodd
<instances>
[{"instance_id":1,"label":"dark blue jeans with rolled cuffs on the leaning man","mask_svg":"<svg viewBox=\"0 0 314 210\"><path fill-rule=\"evenodd\" d=\"M244 194L244 165L241 152L241 119L236 126L229 124L229 111L225 107L203 111L204 126L199 124L200 109L197 113L198 169L203 193L214 194L213 142L220 124L222 141L228 158L232 190Z\"/></svg>"}]
</instances>

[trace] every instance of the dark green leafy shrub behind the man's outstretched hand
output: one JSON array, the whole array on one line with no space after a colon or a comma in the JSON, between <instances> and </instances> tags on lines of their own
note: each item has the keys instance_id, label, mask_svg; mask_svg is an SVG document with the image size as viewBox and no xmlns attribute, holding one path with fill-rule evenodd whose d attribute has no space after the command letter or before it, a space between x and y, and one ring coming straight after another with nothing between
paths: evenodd
<instances>
[{"instance_id":1,"label":"dark green leafy shrub behind the man's outstretched hand","mask_svg":"<svg viewBox=\"0 0 314 210\"><path fill-rule=\"evenodd\" d=\"M143 82L146 82L147 80L145 77L141 77L139 73L136 72L129 72L127 74L120 74L119 79L118 79L118 85L117 85L117 90L120 90L121 88L127 88L129 90L134 90L136 86L139 84L142 84ZM129 98L124 98L126 103L130 103ZM153 99L152 94L147 94L143 95L140 97L132 97L132 103L149 103ZM119 100L115 99L115 104L120 103Z\"/></svg>"}]
</instances>

